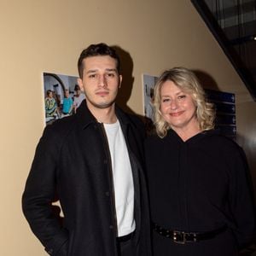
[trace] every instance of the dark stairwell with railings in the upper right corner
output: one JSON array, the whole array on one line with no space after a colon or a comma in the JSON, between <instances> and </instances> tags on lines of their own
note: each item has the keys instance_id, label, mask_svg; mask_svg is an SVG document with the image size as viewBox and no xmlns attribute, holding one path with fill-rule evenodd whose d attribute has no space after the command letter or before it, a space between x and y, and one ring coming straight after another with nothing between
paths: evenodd
<instances>
[{"instance_id":1,"label":"dark stairwell with railings in the upper right corner","mask_svg":"<svg viewBox=\"0 0 256 256\"><path fill-rule=\"evenodd\" d=\"M256 102L256 1L191 0Z\"/></svg>"}]
</instances>

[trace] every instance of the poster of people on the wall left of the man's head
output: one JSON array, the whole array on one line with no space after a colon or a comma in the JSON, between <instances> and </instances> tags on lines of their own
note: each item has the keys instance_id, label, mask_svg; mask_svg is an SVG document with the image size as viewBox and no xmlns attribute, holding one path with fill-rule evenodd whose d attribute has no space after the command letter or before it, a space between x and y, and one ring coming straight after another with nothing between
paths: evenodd
<instances>
[{"instance_id":1,"label":"poster of people on the wall left of the man's head","mask_svg":"<svg viewBox=\"0 0 256 256\"><path fill-rule=\"evenodd\" d=\"M84 100L77 77L55 73L44 73L44 110L45 123L51 124L76 113Z\"/></svg>"}]
</instances>

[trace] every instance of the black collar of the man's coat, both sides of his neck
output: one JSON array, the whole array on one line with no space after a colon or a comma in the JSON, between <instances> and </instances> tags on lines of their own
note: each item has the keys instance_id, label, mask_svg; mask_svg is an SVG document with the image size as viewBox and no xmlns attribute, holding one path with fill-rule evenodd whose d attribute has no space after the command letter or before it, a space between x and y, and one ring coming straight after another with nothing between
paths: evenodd
<instances>
[{"instance_id":1,"label":"black collar of the man's coat, both sides of his neck","mask_svg":"<svg viewBox=\"0 0 256 256\"><path fill-rule=\"evenodd\" d=\"M119 122L122 125L130 124L130 119L128 115L116 105L115 105L115 113L117 115L117 118L119 119ZM96 118L90 112L89 108L87 108L86 100L81 102L75 117L77 119L77 122L79 123L79 125L83 127L83 129L85 129L88 125L93 125L97 123Z\"/></svg>"}]
</instances>

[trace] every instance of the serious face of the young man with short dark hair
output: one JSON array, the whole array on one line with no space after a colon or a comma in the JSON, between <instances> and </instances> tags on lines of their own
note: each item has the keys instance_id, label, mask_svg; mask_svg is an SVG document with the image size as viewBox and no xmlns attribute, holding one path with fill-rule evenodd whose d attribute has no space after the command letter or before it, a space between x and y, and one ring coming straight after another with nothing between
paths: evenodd
<instances>
[{"instance_id":1,"label":"serious face of the young man with short dark hair","mask_svg":"<svg viewBox=\"0 0 256 256\"><path fill-rule=\"evenodd\" d=\"M109 55L92 56L85 58L83 64L83 79L78 83L88 108L112 107L122 80L115 59Z\"/></svg>"}]
</instances>

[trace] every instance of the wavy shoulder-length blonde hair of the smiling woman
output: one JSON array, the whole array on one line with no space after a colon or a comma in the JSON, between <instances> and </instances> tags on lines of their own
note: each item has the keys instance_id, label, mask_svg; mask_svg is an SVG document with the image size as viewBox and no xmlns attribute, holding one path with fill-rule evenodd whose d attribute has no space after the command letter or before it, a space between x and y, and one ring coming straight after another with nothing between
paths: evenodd
<instances>
[{"instance_id":1,"label":"wavy shoulder-length blonde hair of the smiling woman","mask_svg":"<svg viewBox=\"0 0 256 256\"><path fill-rule=\"evenodd\" d=\"M205 91L203 90L195 73L185 67L173 67L160 75L154 87L154 125L159 137L166 137L170 125L162 117L160 112L160 90L166 81L172 81L185 93L189 93L195 102L196 118L201 131L214 128L215 109L212 103L207 102Z\"/></svg>"}]
</instances>

